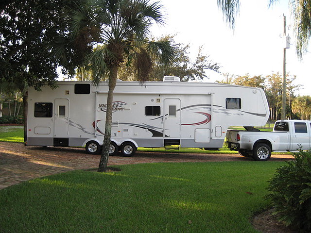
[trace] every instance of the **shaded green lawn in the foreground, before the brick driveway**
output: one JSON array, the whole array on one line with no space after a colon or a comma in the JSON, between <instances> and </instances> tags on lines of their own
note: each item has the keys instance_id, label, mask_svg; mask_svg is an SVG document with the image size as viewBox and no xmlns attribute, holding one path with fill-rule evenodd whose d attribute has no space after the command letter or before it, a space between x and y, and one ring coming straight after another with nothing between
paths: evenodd
<instances>
[{"instance_id":1,"label":"shaded green lawn in the foreground, before the brick driveway","mask_svg":"<svg viewBox=\"0 0 311 233\"><path fill-rule=\"evenodd\" d=\"M0 232L256 233L280 162L158 163L77 170L0 190Z\"/></svg>"}]
</instances>

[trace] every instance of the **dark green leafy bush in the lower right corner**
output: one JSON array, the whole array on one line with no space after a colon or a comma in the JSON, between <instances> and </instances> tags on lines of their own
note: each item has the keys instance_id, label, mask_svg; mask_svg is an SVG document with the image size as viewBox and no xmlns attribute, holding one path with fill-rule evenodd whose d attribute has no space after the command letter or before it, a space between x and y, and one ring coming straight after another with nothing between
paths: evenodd
<instances>
[{"instance_id":1,"label":"dark green leafy bush in the lower right corner","mask_svg":"<svg viewBox=\"0 0 311 233\"><path fill-rule=\"evenodd\" d=\"M311 151L294 154L294 160L277 168L269 181L270 193L265 199L271 200L274 215L286 226L311 232Z\"/></svg>"}]
</instances>

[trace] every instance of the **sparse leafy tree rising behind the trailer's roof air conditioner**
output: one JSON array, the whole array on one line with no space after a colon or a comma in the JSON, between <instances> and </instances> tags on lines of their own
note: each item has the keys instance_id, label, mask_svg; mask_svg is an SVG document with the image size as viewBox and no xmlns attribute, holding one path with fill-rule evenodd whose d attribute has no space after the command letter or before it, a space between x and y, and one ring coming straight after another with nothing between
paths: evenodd
<instances>
[{"instance_id":1,"label":"sparse leafy tree rising behind the trailer's roof air conditioner","mask_svg":"<svg viewBox=\"0 0 311 233\"><path fill-rule=\"evenodd\" d=\"M150 77L152 81L162 81L163 76L177 76L181 81L188 82L190 80L203 80L208 78L206 70L214 70L219 72L220 65L209 60L207 55L202 54L203 47L199 48L195 61L191 61L189 56L190 44L183 45L175 43L174 36L166 35L159 39L159 41L170 41L176 47L175 59L170 66L164 66L159 63L156 56L151 57L152 70ZM133 61L136 63L137 61ZM137 72L133 66L123 66L119 70L119 79L121 80L138 80Z\"/></svg>"}]
</instances>

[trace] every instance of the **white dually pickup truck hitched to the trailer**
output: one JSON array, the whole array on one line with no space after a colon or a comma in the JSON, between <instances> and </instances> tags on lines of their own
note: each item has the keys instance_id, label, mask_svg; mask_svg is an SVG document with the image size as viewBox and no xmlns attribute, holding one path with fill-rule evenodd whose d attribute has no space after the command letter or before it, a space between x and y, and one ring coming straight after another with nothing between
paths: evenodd
<instances>
[{"instance_id":1,"label":"white dually pickup truck hitched to the trailer","mask_svg":"<svg viewBox=\"0 0 311 233\"><path fill-rule=\"evenodd\" d=\"M253 127L246 131L228 130L226 139L230 150L237 150L242 156L267 161L271 152L310 150L310 120L278 120L273 132L260 132Z\"/></svg>"}]
</instances>

